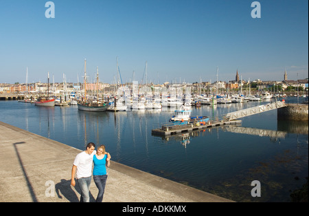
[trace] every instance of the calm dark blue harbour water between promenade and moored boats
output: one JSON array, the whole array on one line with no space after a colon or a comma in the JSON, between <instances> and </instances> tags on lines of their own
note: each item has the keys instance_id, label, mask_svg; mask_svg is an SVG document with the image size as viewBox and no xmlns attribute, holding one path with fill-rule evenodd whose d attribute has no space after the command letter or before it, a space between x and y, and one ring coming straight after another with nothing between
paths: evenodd
<instances>
[{"instance_id":1,"label":"calm dark blue harbour water between promenade and moored boats","mask_svg":"<svg viewBox=\"0 0 309 216\"><path fill-rule=\"evenodd\" d=\"M265 103L205 105L192 115L217 116ZM279 122L275 110L242 118L237 130L152 136L172 115L173 110L91 113L77 106L0 101L2 122L82 150L88 142L105 144L114 161L238 202L290 202L291 191L306 183L308 122ZM251 197L253 180L261 182L261 197Z\"/></svg>"}]
</instances>

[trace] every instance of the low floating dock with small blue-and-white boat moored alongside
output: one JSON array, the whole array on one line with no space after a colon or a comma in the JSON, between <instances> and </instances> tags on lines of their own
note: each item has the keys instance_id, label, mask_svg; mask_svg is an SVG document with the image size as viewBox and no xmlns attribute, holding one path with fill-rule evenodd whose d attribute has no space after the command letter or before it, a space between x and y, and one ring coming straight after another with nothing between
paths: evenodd
<instances>
[{"instance_id":1,"label":"low floating dock with small blue-and-white boat moored alongside","mask_svg":"<svg viewBox=\"0 0 309 216\"><path fill-rule=\"evenodd\" d=\"M194 123L190 123L187 125L174 125L171 122L165 123L162 125L161 128L152 129L152 135L159 135L159 136L172 136L174 134L179 133L187 133L190 131L198 131L201 129L207 129L212 127L218 127L222 125L240 125L241 120L231 120L231 121L209 121L206 125L196 125Z\"/></svg>"}]
</instances>

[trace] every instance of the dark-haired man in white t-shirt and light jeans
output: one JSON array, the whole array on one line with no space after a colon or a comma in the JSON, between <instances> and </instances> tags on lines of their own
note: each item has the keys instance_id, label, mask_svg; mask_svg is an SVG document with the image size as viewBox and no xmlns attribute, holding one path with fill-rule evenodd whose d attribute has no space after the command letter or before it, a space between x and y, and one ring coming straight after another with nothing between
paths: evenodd
<instances>
[{"instance_id":1,"label":"dark-haired man in white t-shirt and light jeans","mask_svg":"<svg viewBox=\"0 0 309 216\"><path fill-rule=\"evenodd\" d=\"M71 185L75 186L76 184L74 179L76 174L78 184L80 185L80 190L82 191L80 202L89 202L90 200L89 191L92 173L92 160L93 155L96 153L94 149L95 144L93 142L89 142L87 144L87 149L76 155L73 162Z\"/></svg>"}]
</instances>

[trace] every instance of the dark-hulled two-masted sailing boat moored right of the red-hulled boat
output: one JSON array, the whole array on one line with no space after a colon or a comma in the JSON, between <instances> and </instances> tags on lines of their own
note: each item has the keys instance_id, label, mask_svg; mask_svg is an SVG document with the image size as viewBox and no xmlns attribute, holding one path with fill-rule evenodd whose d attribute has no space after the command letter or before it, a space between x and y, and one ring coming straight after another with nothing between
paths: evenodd
<instances>
[{"instance_id":1,"label":"dark-hulled two-masted sailing boat moored right of the red-hulled boat","mask_svg":"<svg viewBox=\"0 0 309 216\"><path fill-rule=\"evenodd\" d=\"M84 99L78 102L78 110L82 111L106 111L109 107L108 103L99 100L99 70L97 67L97 100L87 100L87 85L86 85L86 59L84 60Z\"/></svg>"}]
</instances>

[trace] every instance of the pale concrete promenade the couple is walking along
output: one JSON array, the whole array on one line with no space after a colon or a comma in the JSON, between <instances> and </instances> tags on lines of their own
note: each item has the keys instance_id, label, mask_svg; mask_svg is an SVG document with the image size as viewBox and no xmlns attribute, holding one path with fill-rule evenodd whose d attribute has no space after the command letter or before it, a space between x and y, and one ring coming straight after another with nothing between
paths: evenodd
<instances>
[{"instance_id":1,"label":"pale concrete promenade the couple is walking along","mask_svg":"<svg viewBox=\"0 0 309 216\"><path fill-rule=\"evenodd\" d=\"M79 149L0 122L0 202L78 202L71 168ZM113 155L112 155L113 157ZM98 189L91 182L91 202ZM111 161L103 202L231 202Z\"/></svg>"}]
</instances>

